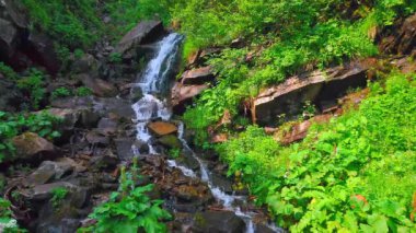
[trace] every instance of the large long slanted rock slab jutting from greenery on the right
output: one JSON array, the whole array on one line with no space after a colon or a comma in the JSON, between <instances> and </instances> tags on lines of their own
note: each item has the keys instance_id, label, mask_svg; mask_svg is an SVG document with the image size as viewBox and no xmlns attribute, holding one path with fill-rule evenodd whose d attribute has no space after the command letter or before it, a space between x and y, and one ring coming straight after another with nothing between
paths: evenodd
<instances>
[{"instance_id":1,"label":"large long slanted rock slab jutting from greenery on the right","mask_svg":"<svg viewBox=\"0 0 416 233\"><path fill-rule=\"evenodd\" d=\"M305 102L323 106L344 95L348 89L366 86L367 70L366 62L357 61L289 78L253 100L253 121L262 126L275 125L281 114L301 114Z\"/></svg>"}]
</instances>

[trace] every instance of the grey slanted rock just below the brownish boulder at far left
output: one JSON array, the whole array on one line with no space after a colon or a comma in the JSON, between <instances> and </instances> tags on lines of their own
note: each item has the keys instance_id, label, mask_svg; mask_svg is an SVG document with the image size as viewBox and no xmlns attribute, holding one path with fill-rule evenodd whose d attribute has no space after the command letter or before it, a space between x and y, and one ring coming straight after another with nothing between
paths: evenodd
<instances>
[{"instance_id":1,"label":"grey slanted rock just below the brownish boulder at far left","mask_svg":"<svg viewBox=\"0 0 416 233\"><path fill-rule=\"evenodd\" d=\"M67 161L44 161L39 167L27 177L25 183L30 186L44 185L62 178L72 173L73 168L72 164Z\"/></svg>"}]
</instances>

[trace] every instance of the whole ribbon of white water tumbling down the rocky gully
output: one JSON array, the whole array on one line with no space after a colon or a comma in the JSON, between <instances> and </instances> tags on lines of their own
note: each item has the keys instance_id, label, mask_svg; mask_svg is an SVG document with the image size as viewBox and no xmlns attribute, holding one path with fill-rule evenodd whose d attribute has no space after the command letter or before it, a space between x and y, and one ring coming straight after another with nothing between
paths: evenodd
<instances>
[{"instance_id":1,"label":"whole ribbon of white water tumbling down the rocky gully","mask_svg":"<svg viewBox=\"0 0 416 233\"><path fill-rule=\"evenodd\" d=\"M176 33L171 33L160 40L153 59L150 60L146 70L138 74L138 82L135 84L136 92L140 91L142 97L132 104L132 109L136 114L134 121L137 129L137 140L139 144L146 144L149 152L147 154L158 155L162 153L154 145L155 139L149 131L148 124L152 120L172 120L172 110L169 105L169 88L171 78L175 74L174 68L177 65L182 40L183 36ZM199 171L194 171L175 160L167 160L167 165L180 170L183 175L192 179L199 179L205 183L215 201L221 206L221 211L232 211L244 221L246 233L259 232L256 231L256 224L253 222L253 219L258 213L241 208L242 205L247 202L247 197L226 194L215 185L212 172L209 171L207 162L199 158L184 139L184 124L182 121L175 121L175 124L177 126L177 138L183 148L182 153L197 161ZM136 145L132 147L132 150L137 156L145 155ZM174 208L173 211L175 211ZM263 228L266 228L268 232L282 232L281 229L276 228L274 224L265 224Z\"/></svg>"}]
</instances>

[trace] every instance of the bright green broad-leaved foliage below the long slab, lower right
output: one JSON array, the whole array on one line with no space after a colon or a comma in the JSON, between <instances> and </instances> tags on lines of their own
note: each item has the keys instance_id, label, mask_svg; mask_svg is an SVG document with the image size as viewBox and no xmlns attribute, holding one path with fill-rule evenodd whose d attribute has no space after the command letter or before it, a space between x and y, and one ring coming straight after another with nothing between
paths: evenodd
<instances>
[{"instance_id":1,"label":"bright green broad-leaved foliage below the long slab, lower right","mask_svg":"<svg viewBox=\"0 0 416 233\"><path fill-rule=\"evenodd\" d=\"M250 127L217 150L291 232L411 232L414 78L391 74L359 109L313 126L300 143L280 147Z\"/></svg>"}]
</instances>

